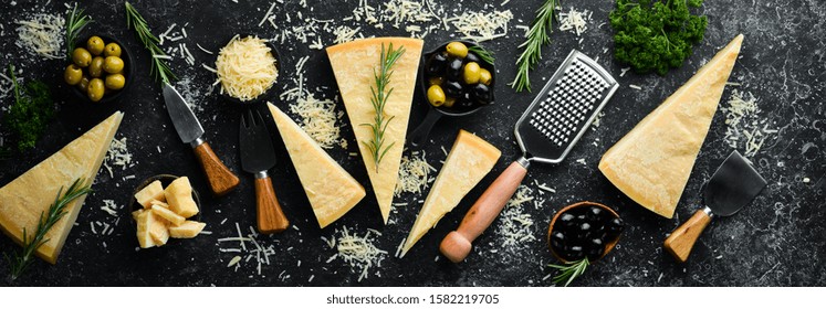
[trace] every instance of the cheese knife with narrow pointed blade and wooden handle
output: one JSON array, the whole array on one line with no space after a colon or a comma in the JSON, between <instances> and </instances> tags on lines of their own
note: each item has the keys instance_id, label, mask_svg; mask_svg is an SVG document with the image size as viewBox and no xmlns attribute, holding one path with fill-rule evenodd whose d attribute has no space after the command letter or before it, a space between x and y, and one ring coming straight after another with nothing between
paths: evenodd
<instances>
[{"instance_id":1,"label":"cheese knife with narrow pointed blade and wooden handle","mask_svg":"<svg viewBox=\"0 0 826 309\"><path fill-rule=\"evenodd\" d=\"M223 164L220 158L216 156L212 148L203 140L203 128L195 117L195 114L186 104L184 97L169 84L164 83L164 100L166 110L172 119L175 130L185 143L189 143L195 157L198 158L207 175L209 188L216 195L224 195L236 189L239 183L238 177Z\"/></svg>"}]
</instances>

